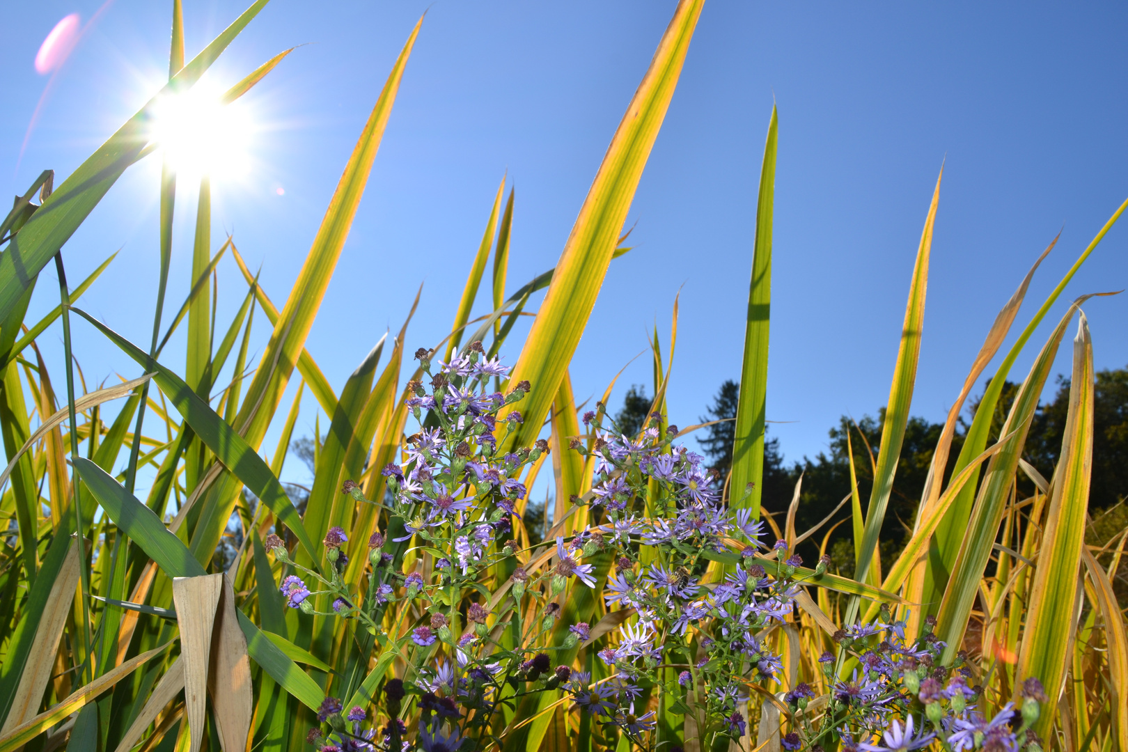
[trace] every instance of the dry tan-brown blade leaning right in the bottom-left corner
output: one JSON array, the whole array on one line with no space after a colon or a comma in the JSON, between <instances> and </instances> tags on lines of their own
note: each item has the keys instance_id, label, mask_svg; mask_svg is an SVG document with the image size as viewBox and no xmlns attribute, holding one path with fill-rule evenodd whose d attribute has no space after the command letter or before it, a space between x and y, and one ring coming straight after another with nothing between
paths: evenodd
<instances>
[{"instance_id":1,"label":"dry tan-brown blade leaning right in the bottom-left corner","mask_svg":"<svg viewBox=\"0 0 1128 752\"><path fill-rule=\"evenodd\" d=\"M64 410L65 412L65 410ZM73 537L72 537L73 538ZM59 640L62 639L67 617L70 616L74 602L74 589L79 577L79 547L71 540L63 559L62 569L51 586L47 605L39 617L39 628L35 631L32 651L19 678L16 695L11 701L8 717L0 728L0 736L35 717L43 701L43 690L51 679L55 655L59 652Z\"/></svg>"}]
</instances>

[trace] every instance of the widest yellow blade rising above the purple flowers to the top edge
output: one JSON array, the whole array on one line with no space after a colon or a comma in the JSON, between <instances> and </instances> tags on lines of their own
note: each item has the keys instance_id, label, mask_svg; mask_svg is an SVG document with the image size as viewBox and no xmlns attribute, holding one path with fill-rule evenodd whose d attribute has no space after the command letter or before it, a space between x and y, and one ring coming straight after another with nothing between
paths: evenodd
<instances>
[{"instance_id":1,"label":"widest yellow blade rising above the purple flowers to the top edge","mask_svg":"<svg viewBox=\"0 0 1128 752\"><path fill-rule=\"evenodd\" d=\"M603 156L513 369L511 383L527 380L532 384L532 391L520 404L525 423L499 451L531 444L556 398L607 275L703 5L704 0L679 1L650 69ZM499 417L504 419L504 414Z\"/></svg>"}]
</instances>

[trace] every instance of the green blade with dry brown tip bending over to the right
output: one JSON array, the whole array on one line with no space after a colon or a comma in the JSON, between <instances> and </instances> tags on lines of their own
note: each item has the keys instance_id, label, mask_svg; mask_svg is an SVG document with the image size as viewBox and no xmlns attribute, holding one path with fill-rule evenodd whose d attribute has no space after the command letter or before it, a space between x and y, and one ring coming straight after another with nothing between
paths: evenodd
<instances>
[{"instance_id":1,"label":"green blade with dry brown tip bending over to the right","mask_svg":"<svg viewBox=\"0 0 1128 752\"><path fill-rule=\"evenodd\" d=\"M1078 307L1092 295L1083 295L1069 306L1061 320L1042 346L1038 359L1030 369L1030 374L1022 382L1014 398L1011 413L1003 424L1003 434L1010 437L1003 448L987 465L982 484L976 497L971 519L960 545L959 555L948 580L944 596L936 614L936 637L948 643L943 660L951 661L963 643L963 632L968 626L971 607L979 593L980 582L987 563L990 559L999 524L1006 511L1006 503L1014 475L1019 467L1019 458L1026 442L1030 421L1038 407L1039 397L1057 355L1066 326ZM970 481L969 481L970 483ZM951 513L951 510L949 511Z\"/></svg>"}]
</instances>

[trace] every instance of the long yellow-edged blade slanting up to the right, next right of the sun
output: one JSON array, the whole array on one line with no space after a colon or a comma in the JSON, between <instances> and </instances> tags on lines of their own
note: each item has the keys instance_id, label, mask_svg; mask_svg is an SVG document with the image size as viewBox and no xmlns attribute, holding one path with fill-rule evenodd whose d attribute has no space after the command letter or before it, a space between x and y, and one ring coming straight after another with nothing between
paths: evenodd
<instances>
[{"instance_id":1,"label":"long yellow-edged blade slanting up to the right, next right of the sun","mask_svg":"<svg viewBox=\"0 0 1128 752\"><path fill-rule=\"evenodd\" d=\"M252 446L257 446L262 441L279 400L282 398L282 392L290 380L298 356L305 347L306 337L314 325L314 318L317 316L333 269L336 267L345 239L349 237L356 209L360 206L372 161L380 147L385 126L391 114L391 106L403 80L404 69L407 65L407 59L411 56L415 37L418 35L422 24L423 19L420 18L399 53L372 113L369 115L368 123L349 158L349 163L337 183L336 192L325 212L321 225L314 238L306 263L302 265L290 298L282 308L274 326L274 333L263 353L262 362L276 362L277 366L259 368L247 388L247 398L239 409L236 424L246 426L244 435ZM306 381L312 386L308 377ZM258 404L262 404L264 409L257 409ZM329 413L329 415L333 414L333 412Z\"/></svg>"}]
</instances>

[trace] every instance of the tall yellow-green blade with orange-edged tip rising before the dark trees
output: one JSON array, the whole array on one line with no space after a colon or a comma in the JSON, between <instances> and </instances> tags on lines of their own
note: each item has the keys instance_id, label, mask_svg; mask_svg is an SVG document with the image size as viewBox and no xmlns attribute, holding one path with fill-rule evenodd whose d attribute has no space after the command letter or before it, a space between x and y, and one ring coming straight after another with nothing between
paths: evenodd
<instances>
[{"instance_id":1,"label":"tall yellow-green blade with orange-edged tip rising before the dark trees","mask_svg":"<svg viewBox=\"0 0 1128 752\"><path fill-rule=\"evenodd\" d=\"M909 300L905 307L905 324L901 327L901 344L897 353L897 365L893 369L893 383L889 389L889 402L885 408L884 425L881 430L881 448L878 450L878 467L873 476L873 489L870 504L865 510L865 530L857 558L856 580L865 582L871 567L871 557L878 550L878 536L885 521L885 506L893 488L893 475L897 472L897 461L901 455L901 442L905 440L905 427L909 419L909 407L913 402L913 387L916 383L917 360L920 356L920 330L924 325L924 301L928 289L928 259L932 251L932 229L936 221L936 206L940 203L940 183L944 177L941 168L936 178L936 187L928 206L928 216L920 233L920 246L917 249L916 264L913 268L913 284L909 286ZM856 613L856 602L851 604L847 622L853 621Z\"/></svg>"}]
</instances>

